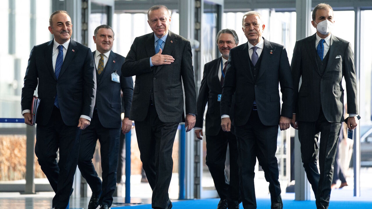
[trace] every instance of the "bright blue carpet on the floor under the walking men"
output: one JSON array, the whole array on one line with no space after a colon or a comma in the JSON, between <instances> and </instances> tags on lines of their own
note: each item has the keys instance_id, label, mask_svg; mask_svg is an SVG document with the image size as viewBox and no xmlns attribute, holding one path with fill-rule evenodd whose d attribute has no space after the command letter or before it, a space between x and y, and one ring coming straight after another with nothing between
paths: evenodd
<instances>
[{"instance_id":1,"label":"bright blue carpet on the floor under the walking men","mask_svg":"<svg viewBox=\"0 0 372 209\"><path fill-rule=\"evenodd\" d=\"M173 202L172 209L215 209L219 199L182 200ZM270 209L270 199L257 199L257 209ZM129 206L131 209L151 209L151 204ZM243 206L240 204L240 208ZM315 209L315 200L296 201L283 200L283 208L289 209ZM128 209L128 206L115 207L115 209ZM332 201L329 209L372 209L372 202L362 201Z\"/></svg>"}]
</instances>

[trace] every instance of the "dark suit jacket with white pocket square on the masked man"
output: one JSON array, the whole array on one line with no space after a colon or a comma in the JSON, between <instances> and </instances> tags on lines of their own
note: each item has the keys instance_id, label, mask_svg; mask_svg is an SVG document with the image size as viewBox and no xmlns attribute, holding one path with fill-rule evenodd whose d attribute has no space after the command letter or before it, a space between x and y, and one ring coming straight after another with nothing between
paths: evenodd
<instances>
[{"instance_id":1,"label":"dark suit jacket with white pocket square on the masked man","mask_svg":"<svg viewBox=\"0 0 372 209\"><path fill-rule=\"evenodd\" d=\"M320 107L329 122L343 122L344 89L346 82L347 112L358 114L357 86L354 55L351 44L331 35L327 67L320 73L315 56L316 35L296 42L292 57L292 75L295 86L294 113L296 120L314 122L318 119ZM299 79L301 88L298 91Z\"/></svg>"}]
</instances>

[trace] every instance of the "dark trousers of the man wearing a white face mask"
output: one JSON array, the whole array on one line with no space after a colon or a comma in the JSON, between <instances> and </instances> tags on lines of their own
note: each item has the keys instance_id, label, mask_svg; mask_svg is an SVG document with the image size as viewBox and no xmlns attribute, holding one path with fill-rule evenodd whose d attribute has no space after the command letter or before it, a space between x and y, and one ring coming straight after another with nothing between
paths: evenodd
<instances>
[{"instance_id":1,"label":"dark trousers of the man wearing a white face mask","mask_svg":"<svg viewBox=\"0 0 372 209\"><path fill-rule=\"evenodd\" d=\"M298 121L298 138L301 143L301 157L307 179L315 194L317 208L328 208L333 164L339 140L341 123L331 123L325 119L320 110L315 122ZM317 134L320 132L320 145L317 145ZM317 168L317 152L319 152L319 169Z\"/></svg>"}]
</instances>

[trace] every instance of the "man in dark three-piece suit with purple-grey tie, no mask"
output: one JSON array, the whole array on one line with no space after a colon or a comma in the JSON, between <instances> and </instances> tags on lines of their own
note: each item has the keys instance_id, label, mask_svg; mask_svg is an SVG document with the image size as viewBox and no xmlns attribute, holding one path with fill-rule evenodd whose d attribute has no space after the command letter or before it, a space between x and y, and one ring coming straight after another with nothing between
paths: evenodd
<instances>
[{"instance_id":1,"label":"man in dark three-piece suit with purple-grey tie, no mask","mask_svg":"<svg viewBox=\"0 0 372 209\"><path fill-rule=\"evenodd\" d=\"M288 129L292 117L292 75L285 48L262 38L264 29L260 13L251 11L243 16L243 31L248 42L230 50L222 88L221 126L224 131L231 131L229 114L235 94L232 125L238 144L241 198L245 209L257 207L256 157L270 183L271 208L283 208L275 152L278 125L280 130ZM281 112L279 83L283 101Z\"/></svg>"}]
</instances>

